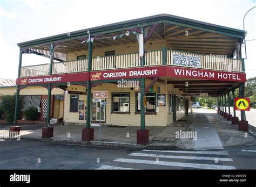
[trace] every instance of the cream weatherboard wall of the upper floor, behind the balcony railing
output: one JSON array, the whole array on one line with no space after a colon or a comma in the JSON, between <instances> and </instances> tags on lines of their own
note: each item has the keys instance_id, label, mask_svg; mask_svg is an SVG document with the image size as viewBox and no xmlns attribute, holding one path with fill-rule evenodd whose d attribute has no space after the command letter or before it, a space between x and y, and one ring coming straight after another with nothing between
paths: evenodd
<instances>
[{"instance_id":1,"label":"cream weatherboard wall of the upper floor, behind the balcony railing","mask_svg":"<svg viewBox=\"0 0 256 187\"><path fill-rule=\"evenodd\" d=\"M117 39L118 40L118 39ZM120 40L122 41L122 40ZM93 46L93 42L92 42ZM157 50L157 49L162 49L163 47L166 46L166 41L165 40L149 40L145 44L146 50ZM132 53L132 52L139 52L139 44L138 42L132 42L132 43L127 43L127 44L119 44L116 46L111 46L111 47L102 47L102 48L96 48L93 49L92 51L92 57L97 57L97 56L105 56L105 52L109 51L114 51L115 54L124 54L124 53ZM67 60L77 60L77 56L80 55L86 55L86 58L88 57L88 52L87 51L79 51L79 52L73 52L73 53L68 53L67 55Z\"/></svg>"}]
</instances>

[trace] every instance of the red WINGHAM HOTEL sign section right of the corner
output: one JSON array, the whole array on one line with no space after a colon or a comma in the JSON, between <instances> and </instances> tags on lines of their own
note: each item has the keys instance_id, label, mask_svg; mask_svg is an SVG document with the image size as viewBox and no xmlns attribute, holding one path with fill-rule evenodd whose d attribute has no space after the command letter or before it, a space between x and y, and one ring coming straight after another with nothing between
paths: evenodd
<instances>
[{"instance_id":1,"label":"red WINGHAM HOTEL sign section right of the corner","mask_svg":"<svg viewBox=\"0 0 256 187\"><path fill-rule=\"evenodd\" d=\"M202 80L246 82L245 73L166 66L167 77L197 78Z\"/></svg>"}]
</instances>

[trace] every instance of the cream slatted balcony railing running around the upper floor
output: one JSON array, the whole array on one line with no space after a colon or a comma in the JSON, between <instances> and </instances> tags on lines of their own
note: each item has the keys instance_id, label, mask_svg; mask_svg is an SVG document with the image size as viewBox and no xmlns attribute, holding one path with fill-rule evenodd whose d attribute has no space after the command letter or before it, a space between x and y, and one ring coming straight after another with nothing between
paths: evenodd
<instances>
[{"instance_id":1,"label":"cream slatted balcony railing running around the upper floor","mask_svg":"<svg viewBox=\"0 0 256 187\"><path fill-rule=\"evenodd\" d=\"M177 59L178 56L178 59ZM179 58L180 57L180 58ZM180 59L192 59L197 66L187 66ZM203 68L224 71L242 71L242 61L227 58L223 55L204 55L172 51L169 49L147 51L144 56L144 66L160 66L162 64L170 66L183 66L190 68ZM194 60L195 59L195 60ZM178 60L178 61L177 61ZM163 63L164 62L164 63ZM180 63L179 63L180 62ZM87 71L88 60L72 60L66 62L55 62L52 67L52 74L69 74ZM139 53L119 54L113 56L98 56L92 58L92 71L107 69L123 69L141 67L142 62ZM21 68L21 77L32 77L49 75L49 64L36 66L26 66Z\"/></svg>"}]
</instances>

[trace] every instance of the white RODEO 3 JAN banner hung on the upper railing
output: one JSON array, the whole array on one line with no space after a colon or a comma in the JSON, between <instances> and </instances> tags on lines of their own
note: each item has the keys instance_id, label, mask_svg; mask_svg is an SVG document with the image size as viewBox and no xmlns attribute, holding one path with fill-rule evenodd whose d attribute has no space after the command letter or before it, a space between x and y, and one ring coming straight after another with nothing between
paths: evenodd
<instances>
[{"instance_id":1,"label":"white RODEO 3 JAN banner hung on the upper railing","mask_svg":"<svg viewBox=\"0 0 256 187\"><path fill-rule=\"evenodd\" d=\"M186 66L186 67L201 67L201 59L199 56L191 56L185 54L172 54L172 63L176 66Z\"/></svg>"}]
</instances>

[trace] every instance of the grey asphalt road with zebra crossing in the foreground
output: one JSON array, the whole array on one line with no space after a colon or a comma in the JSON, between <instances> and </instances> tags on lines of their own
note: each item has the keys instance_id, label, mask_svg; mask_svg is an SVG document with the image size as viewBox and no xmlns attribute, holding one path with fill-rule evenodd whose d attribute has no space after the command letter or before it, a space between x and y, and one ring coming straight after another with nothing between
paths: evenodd
<instances>
[{"instance_id":1,"label":"grey asphalt road with zebra crossing in the foreground","mask_svg":"<svg viewBox=\"0 0 256 187\"><path fill-rule=\"evenodd\" d=\"M0 169L256 169L256 146L174 151L0 140Z\"/></svg>"}]
</instances>

